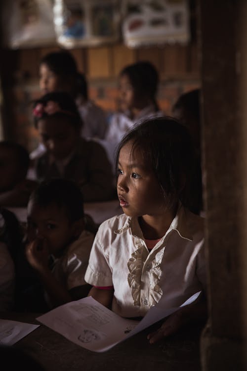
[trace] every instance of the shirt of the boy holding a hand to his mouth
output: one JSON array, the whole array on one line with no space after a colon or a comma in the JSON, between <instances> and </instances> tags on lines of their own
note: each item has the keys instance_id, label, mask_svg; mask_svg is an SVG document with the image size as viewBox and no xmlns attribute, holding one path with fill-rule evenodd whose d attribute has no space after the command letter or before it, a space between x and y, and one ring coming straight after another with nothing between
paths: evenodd
<instances>
[{"instance_id":1,"label":"shirt of the boy holding a hand to his mouth","mask_svg":"<svg viewBox=\"0 0 247 371\"><path fill-rule=\"evenodd\" d=\"M52 273L67 290L86 284L84 275L93 239L94 235L84 230L60 258L53 257Z\"/></svg>"}]
</instances>

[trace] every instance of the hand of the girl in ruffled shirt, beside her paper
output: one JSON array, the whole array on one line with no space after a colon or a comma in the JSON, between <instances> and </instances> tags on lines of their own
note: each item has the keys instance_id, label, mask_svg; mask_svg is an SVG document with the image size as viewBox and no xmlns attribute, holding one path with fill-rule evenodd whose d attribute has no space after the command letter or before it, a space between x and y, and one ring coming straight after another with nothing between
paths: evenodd
<instances>
[{"instance_id":1,"label":"hand of the girl in ruffled shirt, beside her paper","mask_svg":"<svg viewBox=\"0 0 247 371\"><path fill-rule=\"evenodd\" d=\"M148 335L148 340L150 344L154 344L161 340L163 337L172 335L177 332L183 325L187 322L184 316L183 309L180 309L173 314L171 314L164 324L159 328L159 330L152 332Z\"/></svg>"}]
</instances>

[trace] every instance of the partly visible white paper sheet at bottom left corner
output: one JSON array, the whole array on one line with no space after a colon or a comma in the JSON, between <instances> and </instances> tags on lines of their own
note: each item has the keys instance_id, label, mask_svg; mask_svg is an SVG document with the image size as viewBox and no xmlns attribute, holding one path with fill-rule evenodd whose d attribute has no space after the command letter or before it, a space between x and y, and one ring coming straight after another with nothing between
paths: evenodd
<instances>
[{"instance_id":1,"label":"partly visible white paper sheet at bottom left corner","mask_svg":"<svg viewBox=\"0 0 247 371\"><path fill-rule=\"evenodd\" d=\"M0 320L0 344L13 345L40 325Z\"/></svg>"}]
</instances>

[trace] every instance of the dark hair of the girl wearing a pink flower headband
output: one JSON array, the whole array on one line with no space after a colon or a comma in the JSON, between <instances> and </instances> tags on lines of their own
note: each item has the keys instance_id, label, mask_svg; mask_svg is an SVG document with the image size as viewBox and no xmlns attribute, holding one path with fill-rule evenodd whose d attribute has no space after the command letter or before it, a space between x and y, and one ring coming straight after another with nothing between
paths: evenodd
<instances>
[{"instance_id":1,"label":"dark hair of the girl wearing a pink flower headband","mask_svg":"<svg viewBox=\"0 0 247 371\"><path fill-rule=\"evenodd\" d=\"M53 103L55 108L49 108L50 103ZM77 105L69 93L53 92L41 96L33 102L33 117L34 123L37 124L40 120L53 116L57 119L63 119L65 116L76 130L82 128L82 118L78 112ZM58 107L58 108L56 108Z\"/></svg>"}]
</instances>

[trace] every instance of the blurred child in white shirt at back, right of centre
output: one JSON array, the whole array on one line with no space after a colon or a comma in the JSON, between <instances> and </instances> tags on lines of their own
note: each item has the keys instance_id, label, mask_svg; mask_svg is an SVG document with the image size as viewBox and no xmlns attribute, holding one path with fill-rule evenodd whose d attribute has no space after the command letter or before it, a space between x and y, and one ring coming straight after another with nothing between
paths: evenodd
<instances>
[{"instance_id":1,"label":"blurred child in white shirt at back, right of centre","mask_svg":"<svg viewBox=\"0 0 247 371\"><path fill-rule=\"evenodd\" d=\"M119 75L121 112L112 116L106 138L101 141L113 167L115 150L124 134L139 120L163 115L156 100L158 86L158 72L148 61L130 64L121 71Z\"/></svg>"}]
</instances>

